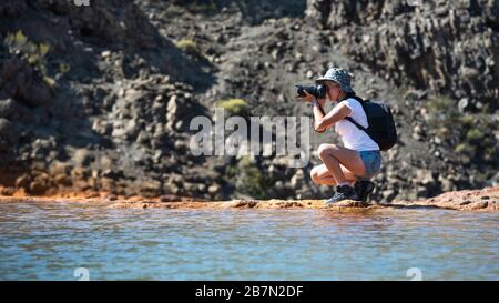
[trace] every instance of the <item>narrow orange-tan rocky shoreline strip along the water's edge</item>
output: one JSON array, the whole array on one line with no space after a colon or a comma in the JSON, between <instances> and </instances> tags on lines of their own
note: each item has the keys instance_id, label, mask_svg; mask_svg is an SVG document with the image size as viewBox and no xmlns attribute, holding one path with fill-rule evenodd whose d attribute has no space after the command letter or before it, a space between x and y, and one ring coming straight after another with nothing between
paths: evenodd
<instances>
[{"instance_id":1,"label":"narrow orange-tan rocky shoreline strip along the water's edge","mask_svg":"<svg viewBox=\"0 0 499 303\"><path fill-rule=\"evenodd\" d=\"M163 210L226 210L226 209L255 209L255 210L299 210L317 209L332 211L364 212L370 210L455 210L472 212L498 212L499 186L482 190L454 191L438 196L417 201L395 201L391 203L361 203L356 201L342 201L327 206L324 200L231 200L231 201L202 201L193 198L161 196L147 199L143 196L115 196L106 193L60 194L58 196L2 196L0 203L104 203L111 209L163 209Z\"/></svg>"}]
</instances>

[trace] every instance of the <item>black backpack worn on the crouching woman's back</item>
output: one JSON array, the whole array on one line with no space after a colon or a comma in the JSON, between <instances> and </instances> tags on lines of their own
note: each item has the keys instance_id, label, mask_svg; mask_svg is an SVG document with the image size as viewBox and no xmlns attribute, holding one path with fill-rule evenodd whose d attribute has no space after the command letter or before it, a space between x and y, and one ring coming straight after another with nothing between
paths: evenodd
<instances>
[{"instance_id":1,"label":"black backpack worn on the crouching woman's back","mask_svg":"<svg viewBox=\"0 0 499 303\"><path fill-rule=\"evenodd\" d=\"M381 151L391 149L397 143L397 129L395 128L390 105L385 102L363 100L357 95L350 98L357 100L363 105L369 127L367 129L364 128L352 117L346 117L345 119L354 123L359 130L366 132L370 139L378 143Z\"/></svg>"}]
</instances>

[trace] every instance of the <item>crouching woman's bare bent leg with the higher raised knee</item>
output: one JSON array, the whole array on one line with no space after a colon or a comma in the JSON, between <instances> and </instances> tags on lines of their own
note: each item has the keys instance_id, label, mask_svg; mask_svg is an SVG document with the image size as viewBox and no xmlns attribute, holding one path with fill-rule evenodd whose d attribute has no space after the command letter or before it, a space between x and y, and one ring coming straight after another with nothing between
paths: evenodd
<instances>
[{"instance_id":1,"label":"crouching woman's bare bent leg with the higher raised knee","mask_svg":"<svg viewBox=\"0 0 499 303\"><path fill-rule=\"evenodd\" d=\"M364 175L366 171L363 160L355 150L335 144L320 144L318 155L329 173L334 176L336 184L344 184L347 180L342 170L342 165L354 175Z\"/></svg>"}]
</instances>

